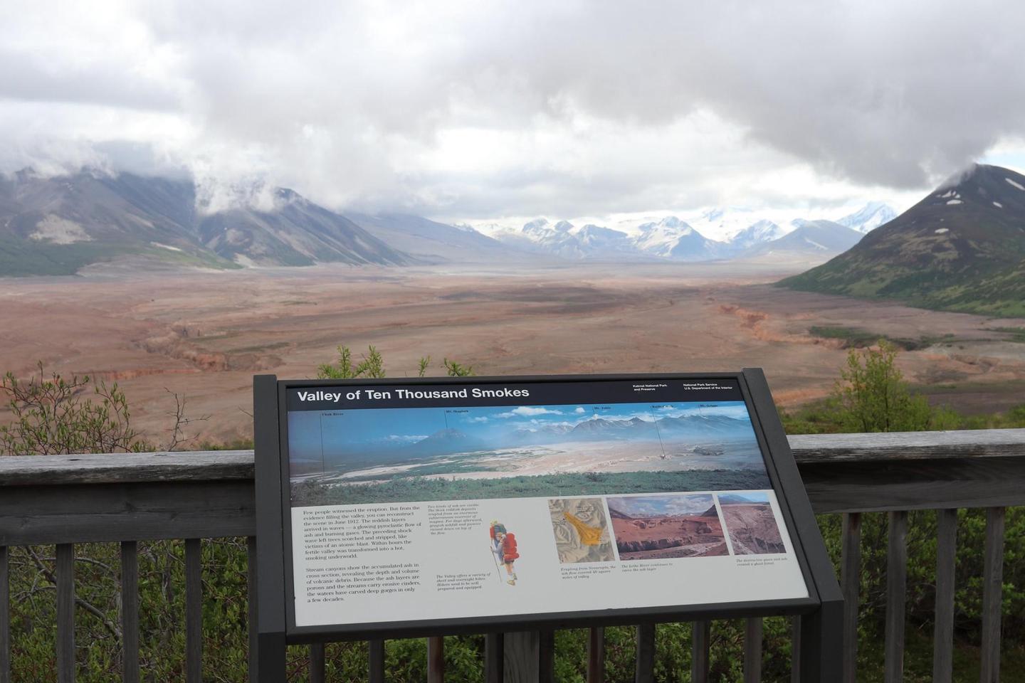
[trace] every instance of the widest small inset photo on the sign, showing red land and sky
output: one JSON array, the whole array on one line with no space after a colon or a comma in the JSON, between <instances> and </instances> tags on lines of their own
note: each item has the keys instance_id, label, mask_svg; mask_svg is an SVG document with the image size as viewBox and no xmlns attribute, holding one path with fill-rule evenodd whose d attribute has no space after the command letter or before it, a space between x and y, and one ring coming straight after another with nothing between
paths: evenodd
<instances>
[{"instance_id":1,"label":"widest small inset photo on the sign, showing red land and sky","mask_svg":"<svg viewBox=\"0 0 1025 683\"><path fill-rule=\"evenodd\" d=\"M729 554L710 495L629 496L607 502L621 560Z\"/></svg>"}]
</instances>

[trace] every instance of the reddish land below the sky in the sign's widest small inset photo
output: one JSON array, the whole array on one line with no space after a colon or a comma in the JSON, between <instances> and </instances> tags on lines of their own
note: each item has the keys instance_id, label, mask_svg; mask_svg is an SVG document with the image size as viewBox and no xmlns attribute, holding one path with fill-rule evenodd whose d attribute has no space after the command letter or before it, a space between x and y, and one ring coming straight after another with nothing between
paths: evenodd
<instances>
[{"instance_id":1,"label":"reddish land below the sky in the sign's widest small inset photo","mask_svg":"<svg viewBox=\"0 0 1025 683\"><path fill-rule=\"evenodd\" d=\"M621 560L729 554L714 506L695 515L632 517L612 505L610 501L612 530Z\"/></svg>"}]
</instances>

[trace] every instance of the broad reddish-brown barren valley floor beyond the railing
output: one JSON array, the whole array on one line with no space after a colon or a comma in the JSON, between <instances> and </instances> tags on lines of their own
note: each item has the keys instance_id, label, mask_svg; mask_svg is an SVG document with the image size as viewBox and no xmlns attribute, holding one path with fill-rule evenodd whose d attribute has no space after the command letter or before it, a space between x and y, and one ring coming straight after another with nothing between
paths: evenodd
<instances>
[{"instance_id":1,"label":"broad reddish-brown barren valley floor beyond the railing","mask_svg":"<svg viewBox=\"0 0 1025 683\"><path fill-rule=\"evenodd\" d=\"M375 344L389 376L422 355L479 374L766 369L783 405L825 395L839 340L812 326L944 338L901 354L915 383L971 385L987 411L1023 401L1025 321L944 313L780 290L793 272L758 264L592 264L536 268L313 266L228 272L124 269L0 281L0 370L37 361L125 389L132 419L166 438L184 396L194 434L248 437L254 373L313 377L345 343ZM956 390L938 393L957 405ZM969 405L971 408L972 405Z\"/></svg>"}]
</instances>

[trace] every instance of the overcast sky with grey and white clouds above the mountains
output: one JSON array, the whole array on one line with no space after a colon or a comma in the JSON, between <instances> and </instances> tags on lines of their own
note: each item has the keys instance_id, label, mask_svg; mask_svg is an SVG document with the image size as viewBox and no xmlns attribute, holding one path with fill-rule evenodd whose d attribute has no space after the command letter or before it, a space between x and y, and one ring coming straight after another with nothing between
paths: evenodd
<instances>
[{"instance_id":1,"label":"overcast sky with grey and white clouds above the mountains","mask_svg":"<svg viewBox=\"0 0 1025 683\"><path fill-rule=\"evenodd\" d=\"M0 171L471 221L903 209L973 161L1025 167L1023 7L8 0Z\"/></svg>"}]
</instances>

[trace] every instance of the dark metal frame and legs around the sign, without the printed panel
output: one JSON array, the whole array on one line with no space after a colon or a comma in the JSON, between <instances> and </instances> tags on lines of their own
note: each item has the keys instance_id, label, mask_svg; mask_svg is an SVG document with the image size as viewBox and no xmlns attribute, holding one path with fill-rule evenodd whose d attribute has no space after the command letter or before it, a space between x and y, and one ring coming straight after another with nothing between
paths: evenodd
<instances>
[{"instance_id":1,"label":"dark metal frame and legs around the sign, without the printed panel","mask_svg":"<svg viewBox=\"0 0 1025 683\"><path fill-rule=\"evenodd\" d=\"M460 618L424 618L338 626L296 627L291 562L291 500L287 437L286 389L338 386L543 384L566 382L736 380L743 394L766 470L790 536L809 597L695 605L666 605L573 612L502 614ZM740 373L667 373L629 375L548 375L533 377L395 378L380 380L278 380L253 378L255 437L256 554L260 680L284 680L285 646L291 643L413 638L688 622L737 616L798 614L801 680L839 678L843 595L818 523L797 471L761 369Z\"/></svg>"}]
</instances>

